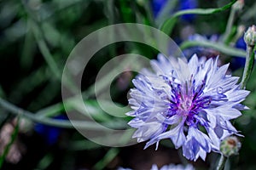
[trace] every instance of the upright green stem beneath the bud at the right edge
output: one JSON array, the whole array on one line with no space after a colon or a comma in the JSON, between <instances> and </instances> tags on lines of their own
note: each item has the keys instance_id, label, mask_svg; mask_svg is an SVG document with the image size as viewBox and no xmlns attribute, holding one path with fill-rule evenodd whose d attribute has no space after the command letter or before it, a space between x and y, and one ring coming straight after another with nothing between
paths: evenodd
<instances>
[{"instance_id":1,"label":"upright green stem beneath the bud at the right edge","mask_svg":"<svg viewBox=\"0 0 256 170\"><path fill-rule=\"evenodd\" d=\"M241 89L246 88L254 64L254 46L247 45L246 64L241 78Z\"/></svg>"}]
</instances>

